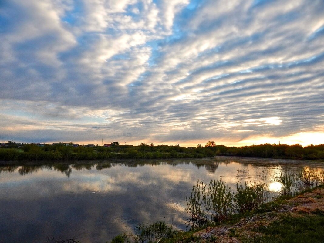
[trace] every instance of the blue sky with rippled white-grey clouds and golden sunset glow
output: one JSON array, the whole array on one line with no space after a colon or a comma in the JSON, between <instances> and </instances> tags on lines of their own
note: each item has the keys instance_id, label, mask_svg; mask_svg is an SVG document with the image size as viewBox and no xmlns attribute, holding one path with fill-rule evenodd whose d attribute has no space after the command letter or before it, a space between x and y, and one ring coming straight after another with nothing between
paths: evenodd
<instances>
[{"instance_id":1,"label":"blue sky with rippled white-grey clouds and golden sunset glow","mask_svg":"<svg viewBox=\"0 0 324 243\"><path fill-rule=\"evenodd\" d=\"M324 143L323 0L2 0L0 142Z\"/></svg>"}]
</instances>

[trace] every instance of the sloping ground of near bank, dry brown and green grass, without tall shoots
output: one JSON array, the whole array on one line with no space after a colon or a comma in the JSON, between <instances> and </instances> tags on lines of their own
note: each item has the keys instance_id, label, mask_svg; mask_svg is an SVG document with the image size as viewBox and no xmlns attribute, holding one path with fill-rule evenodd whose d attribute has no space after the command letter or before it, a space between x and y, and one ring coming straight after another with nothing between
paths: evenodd
<instances>
[{"instance_id":1,"label":"sloping ground of near bank, dry brown and green grass, without tall shoots","mask_svg":"<svg viewBox=\"0 0 324 243\"><path fill-rule=\"evenodd\" d=\"M252 212L223 223L179 232L160 243L322 243L324 239L324 186L295 197L279 198Z\"/></svg>"}]
</instances>

